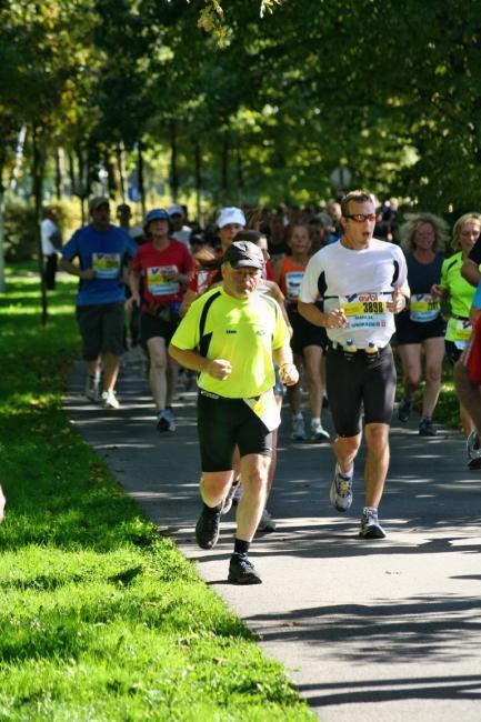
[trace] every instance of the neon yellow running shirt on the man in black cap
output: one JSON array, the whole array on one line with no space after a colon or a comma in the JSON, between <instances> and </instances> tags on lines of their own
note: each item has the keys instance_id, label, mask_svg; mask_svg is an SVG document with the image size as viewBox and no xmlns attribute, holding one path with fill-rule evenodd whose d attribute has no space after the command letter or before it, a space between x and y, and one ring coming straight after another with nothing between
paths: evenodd
<instances>
[{"instance_id":1,"label":"neon yellow running shirt on the man in black cap","mask_svg":"<svg viewBox=\"0 0 481 722\"><path fill-rule=\"evenodd\" d=\"M214 298L212 298L214 297ZM199 350L202 310L203 341L208 359L226 359L232 373L220 381L201 373L199 388L228 399L260 395L274 385L272 351L289 340L278 303L260 293L236 299L223 288L213 288L198 298L172 337L172 344L182 350Z\"/></svg>"}]
</instances>

